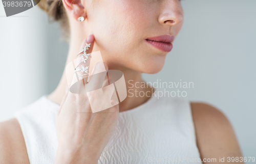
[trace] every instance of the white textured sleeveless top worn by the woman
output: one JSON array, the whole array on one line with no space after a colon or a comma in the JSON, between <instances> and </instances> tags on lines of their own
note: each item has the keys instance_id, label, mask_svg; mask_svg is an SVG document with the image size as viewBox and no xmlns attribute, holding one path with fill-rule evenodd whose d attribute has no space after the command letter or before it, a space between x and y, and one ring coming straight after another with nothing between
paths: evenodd
<instances>
[{"instance_id":1,"label":"white textured sleeveless top worn by the woman","mask_svg":"<svg viewBox=\"0 0 256 164\"><path fill-rule=\"evenodd\" d=\"M31 164L53 164L56 157L55 116L59 105L47 96L14 115ZM114 133L98 160L98 164L110 163L202 163L189 101L153 94L145 103L120 112Z\"/></svg>"}]
</instances>

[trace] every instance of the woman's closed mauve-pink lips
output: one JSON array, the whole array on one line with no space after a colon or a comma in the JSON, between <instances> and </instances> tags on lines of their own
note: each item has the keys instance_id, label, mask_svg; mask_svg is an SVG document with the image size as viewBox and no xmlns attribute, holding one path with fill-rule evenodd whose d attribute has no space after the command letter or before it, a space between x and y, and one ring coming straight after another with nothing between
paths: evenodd
<instances>
[{"instance_id":1,"label":"woman's closed mauve-pink lips","mask_svg":"<svg viewBox=\"0 0 256 164\"><path fill-rule=\"evenodd\" d=\"M162 51L169 52L173 49L172 42L174 41L174 38L173 35L161 35L146 38L145 41Z\"/></svg>"}]
</instances>

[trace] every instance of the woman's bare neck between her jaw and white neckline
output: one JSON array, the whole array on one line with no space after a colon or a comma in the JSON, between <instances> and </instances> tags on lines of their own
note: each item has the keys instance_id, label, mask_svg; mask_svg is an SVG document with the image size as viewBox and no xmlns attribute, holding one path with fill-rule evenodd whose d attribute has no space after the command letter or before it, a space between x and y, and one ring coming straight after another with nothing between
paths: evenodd
<instances>
[{"instance_id":1,"label":"woman's bare neck between her jaw and white neckline","mask_svg":"<svg viewBox=\"0 0 256 164\"><path fill-rule=\"evenodd\" d=\"M82 40L80 42L82 42ZM81 43L80 44L79 43L72 44L72 43L74 42L71 42L66 65L70 63L72 60L76 59L76 54L81 44ZM106 64L109 65L109 63L106 63ZM144 97L138 96L138 93L141 91L144 93L150 93L147 95L152 95L152 88L150 87L145 87L145 88L135 87L135 83L140 84L141 82L143 82L140 72L127 69L124 67L118 67L118 68L111 67L111 69L116 69L123 72L124 78L125 78L126 90L127 92L129 91L127 93L127 97L119 104L119 112L131 110L132 108L139 106L142 103L146 102L148 99L150 99L150 97L147 97L147 96L144 96ZM64 70L57 88L51 94L48 95L48 99L50 99L51 101L57 104L60 104L63 96L65 95L66 85L67 85L67 78ZM137 85L137 86L140 86L140 85Z\"/></svg>"}]
</instances>

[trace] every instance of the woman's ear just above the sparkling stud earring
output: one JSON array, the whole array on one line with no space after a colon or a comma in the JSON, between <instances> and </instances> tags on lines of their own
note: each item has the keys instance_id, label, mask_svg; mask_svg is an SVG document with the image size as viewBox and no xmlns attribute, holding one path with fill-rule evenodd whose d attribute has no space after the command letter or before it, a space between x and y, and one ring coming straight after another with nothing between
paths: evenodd
<instances>
[{"instance_id":1,"label":"woman's ear just above the sparkling stud earring","mask_svg":"<svg viewBox=\"0 0 256 164\"><path fill-rule=\"evenodd\" d=\"M80 16L83 16L84 19L86 19L86 11L81 4L81 0L62 0L62 3L75 20Z\"/></svg>"}]
</instances>

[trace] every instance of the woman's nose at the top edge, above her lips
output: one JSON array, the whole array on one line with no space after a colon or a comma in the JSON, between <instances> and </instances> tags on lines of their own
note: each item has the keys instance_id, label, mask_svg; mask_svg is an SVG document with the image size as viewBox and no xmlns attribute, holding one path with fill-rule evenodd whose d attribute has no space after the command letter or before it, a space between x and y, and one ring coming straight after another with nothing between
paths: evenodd
<instances>
[{"instance_id":1,"label":"woman's nose at the top edge, above her lips","mask_svg":"<svg viewBox=\"0 0 256 164\"><path fill-rule=\"evenodd\" d=\"M178 0L165 1L163 3L162 14L158 21L163 25L173 26L183 21L183 13L180 2Z\"/></svg>"}]
</instances>

